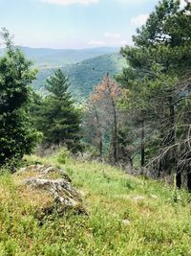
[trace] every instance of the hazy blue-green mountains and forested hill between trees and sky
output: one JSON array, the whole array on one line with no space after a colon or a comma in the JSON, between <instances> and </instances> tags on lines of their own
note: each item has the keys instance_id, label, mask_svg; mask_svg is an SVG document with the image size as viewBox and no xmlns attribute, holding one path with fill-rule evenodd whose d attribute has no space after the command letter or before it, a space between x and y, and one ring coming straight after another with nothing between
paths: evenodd
<instances>
[{"instance_id":1,"label":"hazy blue-green mountains and forested hill between trees and sky","mask_svg":"<svg viewBox=\"0 0 191 256\"><path fill-rule=\"evenodd\" d=\"M93 49L46 49L20 47L27 58L32 59L39 70L37 80L32 86L36 91L45 93L46 79L56 68L61 68L71 81L71 91L75 98L87 98L93 87L107 72L117 75L126 65L118 54L117 47L98 47ZM0 49L0 55L4 52Z\"/></svg>"}]
</instances>

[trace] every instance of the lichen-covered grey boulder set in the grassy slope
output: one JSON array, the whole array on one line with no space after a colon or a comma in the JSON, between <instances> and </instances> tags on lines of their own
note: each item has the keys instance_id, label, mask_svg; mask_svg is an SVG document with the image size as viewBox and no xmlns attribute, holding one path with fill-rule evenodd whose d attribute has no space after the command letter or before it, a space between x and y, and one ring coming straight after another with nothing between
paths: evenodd
<instances>
[{"instance_id":1,"label":"lichen-covered grey boulder set in the grassy slope","mask_svg":"<svg viewBox=\"0 0 191 256\"><path fill-rule=\"evenodd\" d=\"M73 209L74 213L87 214L81 195L74 189L71 178L62 170L48 165L32 165L20 169L15 178L20 184L36 194L36 198L41 197L42 215L49 215L56 212L64 214L68 209ZM35 198L35 197L34 197ZM44 198L47 202L44 203ZM40 202L40 199L38 199Z\"/></svg>"}]
</instances>

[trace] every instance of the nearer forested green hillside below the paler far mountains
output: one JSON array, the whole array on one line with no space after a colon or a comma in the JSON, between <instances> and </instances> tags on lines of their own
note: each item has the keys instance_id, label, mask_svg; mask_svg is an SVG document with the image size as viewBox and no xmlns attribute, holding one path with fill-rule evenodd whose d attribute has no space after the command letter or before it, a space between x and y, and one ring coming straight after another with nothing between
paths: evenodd
<instances>
[{"instance_id":1,"label":"nearer forested green hillside below the paler far mountains","mask_svg":"<svg viewBox=\"0 0 191 256\"><path fill-rule=\"evenodd\" d=\"M107 72L111 76L117 75L125 65L125 60L119 54L111 54L86 59L61 69L71 81L74 97L87 98L93 87L106 76ZM39 69L37 80L33 82L35 90L44 90L46 79L53 74L53 71L54 68Z\"/></svg>"}]
</instances>

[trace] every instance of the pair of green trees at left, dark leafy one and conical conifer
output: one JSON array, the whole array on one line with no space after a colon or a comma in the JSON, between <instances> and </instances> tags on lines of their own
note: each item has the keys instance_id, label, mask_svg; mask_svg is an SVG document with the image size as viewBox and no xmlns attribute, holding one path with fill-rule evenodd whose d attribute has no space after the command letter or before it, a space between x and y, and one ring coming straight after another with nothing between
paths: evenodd
<instances>
[{"instance_id":1,"label":"pair of green trees at left, dark leafy one and conical conifer","mask_svg":"<svg viewBox=\"0 0 191 256\"><path fill-rule=\"evenodd\" d=\"M41 97L32 90L37 74L32 62L14 47L7 29L1 37L6 53L0 58L0 166L14 172L39 144L80 151L81 111L74 106L66 76L56 70L47 79L47 95Z\"/></svg>"}]
</instances>

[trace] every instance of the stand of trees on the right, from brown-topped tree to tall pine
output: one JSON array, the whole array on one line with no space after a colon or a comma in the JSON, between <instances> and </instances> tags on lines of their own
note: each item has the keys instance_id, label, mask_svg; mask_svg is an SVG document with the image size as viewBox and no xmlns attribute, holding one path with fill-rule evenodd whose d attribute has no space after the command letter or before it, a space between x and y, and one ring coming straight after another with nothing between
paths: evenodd
<instances>
[{"instance_id":1,"label":"stand of trees on the right, from brown-topped tree to tall pine","mask_svg":"<svg viewBox=\"0 0 191 256\"><path fill-rule=\"evenodd\" d=\"M96 138L101 155L110 134L114 162L132 167L138 162L142 173L175 176L178 188L186 182L191 190L191 4L185 1L182 8L180 1L160 1L133 41L121 49L128 67L117 85L110 85L117 94L109 87L104 91L106 78L89 98L89 116L96 123L95 136L89 137Z\"/></svg>"}]
</instances>

